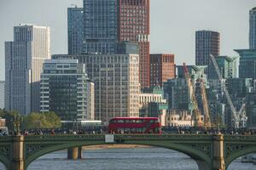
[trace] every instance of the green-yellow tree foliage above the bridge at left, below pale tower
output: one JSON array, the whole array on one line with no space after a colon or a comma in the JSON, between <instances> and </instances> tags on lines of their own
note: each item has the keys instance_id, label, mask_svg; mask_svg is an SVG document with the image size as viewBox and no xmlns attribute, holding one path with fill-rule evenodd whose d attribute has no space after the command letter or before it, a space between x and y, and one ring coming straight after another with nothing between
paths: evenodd
<instances>
[{"instance_id":1,"label":"green-yellow tree foliage above the bridge at left, below pale tower","mask_svg":"<svg viewBox=\"0 0 256 170\"><path fill-rule=\"evenodd\" d=\"M61 127L61 118L55 112L32 112L24 118L24 127L28 128L55 128Z\"/></svg>"}]
</instances>

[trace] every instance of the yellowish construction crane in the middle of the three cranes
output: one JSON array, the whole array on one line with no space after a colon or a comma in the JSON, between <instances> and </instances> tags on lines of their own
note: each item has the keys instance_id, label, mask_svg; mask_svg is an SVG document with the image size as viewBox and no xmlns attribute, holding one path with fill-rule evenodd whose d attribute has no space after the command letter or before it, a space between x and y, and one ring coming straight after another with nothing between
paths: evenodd
<instances>
[{"instance_id":1,"label":"yellowish construction crane in the middle of the three cranes","mask_svg":"<svg viewBox=\"0 0 256 170\"><path fill-rule=\"evenodd\" d=\"M203 111L205 116L204 127L210 128L212 127L212 122L211 122L211 116L210 116L209 105L207 100L207 93L205 89L205 81L201 78L200 78L200 88L201 88L201 100L202 100Z\"/></svg>"}]
</instances>

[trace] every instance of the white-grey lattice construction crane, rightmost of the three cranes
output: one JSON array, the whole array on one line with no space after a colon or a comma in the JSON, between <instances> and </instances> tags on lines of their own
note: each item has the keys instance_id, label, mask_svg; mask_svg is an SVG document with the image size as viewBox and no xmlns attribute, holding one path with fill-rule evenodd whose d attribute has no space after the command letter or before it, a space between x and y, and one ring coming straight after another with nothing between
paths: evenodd
<instances>
[{"instance_id":1,"label":"white-grey lattice construction crane, rightmost of the three cranes","mask_svg":"<svg viewBox=\"0 0 256 170\"><path fill-rule=\"evenodd\" d=\"M217 73L218 76L218 80L221 82L223 77L219 71L218 68L218 64L216 62L216 59L214 58L214 56L212 54L210 54L210 58L212 59L212 64L214 65L215 71ZM245 104L241 105L241 109L239 111L236 111L235 106L233 105L233 102L230 98L230 94L229 91L227 90L225 84L222 86L223 90L224 90L224 94L226 96L226 99L230 105L230 109L231 109L231 119L232 122L234 123L234 127L235 128L239 128L240 127L240 122L241 122L241 127L245 126L245 122L247 121L247 117L246 117L246 113L244 111L245 108Z\"/></svg>"}]
</instances>

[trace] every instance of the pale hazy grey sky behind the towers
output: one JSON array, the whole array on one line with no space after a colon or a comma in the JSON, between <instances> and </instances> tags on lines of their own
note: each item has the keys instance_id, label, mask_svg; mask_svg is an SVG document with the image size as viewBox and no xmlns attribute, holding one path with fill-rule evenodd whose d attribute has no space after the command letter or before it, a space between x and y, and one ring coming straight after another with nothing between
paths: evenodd
<instances>
[{"instance_id":1,"label":"pale hazy grey sky behind the towers","mask_svg":"<svg viewBox=\"0 0 256 170\"><path fill-rule=\"evenodd\" d=\"M50 26L51 54L67 54L67 7L82 0L0 0L0 80L4 42L20 23ZM256 0L151 0L150 52L175 54L177 64L195 64L195 31L219 31L220 53L248 48L249 10Z\"/></svg>"}]
</instances>

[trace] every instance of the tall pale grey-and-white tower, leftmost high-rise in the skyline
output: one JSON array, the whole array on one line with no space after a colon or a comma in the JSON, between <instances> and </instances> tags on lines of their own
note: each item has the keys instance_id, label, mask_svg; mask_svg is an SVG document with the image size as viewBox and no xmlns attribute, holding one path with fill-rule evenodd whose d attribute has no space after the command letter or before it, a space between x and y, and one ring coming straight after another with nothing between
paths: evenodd
<instances>
[{"instance_id":1,"label":"tall pale grey-and-white tower, leftmost high-rise in the skyline","mask_svg":"<svg viewBox=\"0 0 256 170\"><path fill-rule=\"evenodd\" d=\"M15 26L14 42L5 42L5 109L39 111L40 73L50 58L49 27Z\"/></svg>"}]
</instances>

